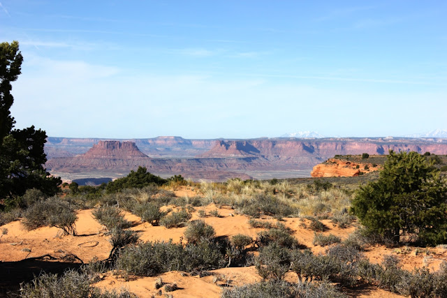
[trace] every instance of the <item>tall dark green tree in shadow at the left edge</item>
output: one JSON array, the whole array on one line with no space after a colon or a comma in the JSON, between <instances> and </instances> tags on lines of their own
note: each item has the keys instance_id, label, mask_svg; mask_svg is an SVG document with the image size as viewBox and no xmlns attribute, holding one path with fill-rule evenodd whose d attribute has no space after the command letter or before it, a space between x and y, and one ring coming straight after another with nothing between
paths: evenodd
<instances>
[{"instance_id":1,"label":"tall dark green tree in shadow at the left edge","mask_svg":"<svg viewBox=\"0 0 447 298\"><path fill-rule=\"evenodd\" d=\"M17 41L0 43L0 199L6 199L7 209L17 207L11 200L27 189L36 188L51 196L61 184L61 179L49 177L43 167L47 161L43 151L45 131L34 126L13 130L11 82L20 75L22 61Z\"/></svg>"}]
</instances>

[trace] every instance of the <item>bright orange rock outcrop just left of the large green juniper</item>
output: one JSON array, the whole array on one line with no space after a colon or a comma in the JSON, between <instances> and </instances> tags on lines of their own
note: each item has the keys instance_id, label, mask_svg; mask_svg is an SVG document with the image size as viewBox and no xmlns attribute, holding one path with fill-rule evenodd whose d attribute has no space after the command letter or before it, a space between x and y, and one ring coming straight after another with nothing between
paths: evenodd
<instances>
[{"instance_id":1,"label":"bright orange rock outcrop just left of the large green juniper","mask_svg":"<svg viewBox=\"0 0 447 298\"><path fill-rule=\"evenodd\" d=\"M355 161L330 158L312 169L311 177L354 177L379 170L381 167L373 163L356 163Z\"/></svg>"}]
</instances>

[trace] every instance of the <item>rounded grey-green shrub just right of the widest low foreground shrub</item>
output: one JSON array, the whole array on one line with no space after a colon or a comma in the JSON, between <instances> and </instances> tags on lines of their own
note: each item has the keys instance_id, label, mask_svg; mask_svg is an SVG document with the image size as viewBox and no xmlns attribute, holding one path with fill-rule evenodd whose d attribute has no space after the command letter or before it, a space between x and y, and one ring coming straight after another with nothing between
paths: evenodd
<instances>
[{"instance_id":1,"label":"rounded grey-green shrub just right of the widest low foreground shrub","mask_svg":"<svg viewBox=\"0 0 447 298\"><path fill-rule=\"evenodd\" d=\"M290 266L290 252L276 242L261 247L255 258L256 270L263 279L282 279Z\"/></svg>"}]
</instances>

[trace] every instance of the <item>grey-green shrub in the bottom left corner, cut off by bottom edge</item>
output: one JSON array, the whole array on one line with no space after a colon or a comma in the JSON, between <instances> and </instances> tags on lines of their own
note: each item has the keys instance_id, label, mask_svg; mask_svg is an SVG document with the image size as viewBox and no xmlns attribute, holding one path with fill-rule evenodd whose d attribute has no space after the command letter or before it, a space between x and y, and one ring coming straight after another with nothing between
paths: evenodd
<instances>
[{"instance_id":1,"label":"grey-green shrub in the bottom left corner, cut off by bottom edge","mask_svg":"<svg viewBox=\"0 0 447 298\"><path fill-rule=\"evenodd\" d=\"M22 284L20 288L20 297L24 298L130 298L136 297L127 290L119 292L101 292L91 284L94 278L85 273L79 273L75 270L68 270L60 278L57 274L41 274L34 278L32 283Z\"/></svg>"}]
</instances>

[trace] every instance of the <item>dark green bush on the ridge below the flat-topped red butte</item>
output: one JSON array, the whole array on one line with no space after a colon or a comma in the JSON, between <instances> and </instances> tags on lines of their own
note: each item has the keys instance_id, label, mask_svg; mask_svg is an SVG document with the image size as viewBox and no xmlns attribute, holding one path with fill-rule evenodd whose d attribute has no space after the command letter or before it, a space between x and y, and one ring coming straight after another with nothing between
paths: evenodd
<instances>
[{"instance_id":1,"label":"dark green bush on the ridge below the flat-topped red butte","mask_svg":"<svg viewBox=\"0 0 447 298\"><path fill-rule=\"evenodd\" d=\"M166 179L147 172L146 167L138 167L136 172L132 170L126 177L109 182L105 191L107 193L117 193L126 188L143 188L150 184L162 185L166 182Z\"/></svg>"}]
</instances>

